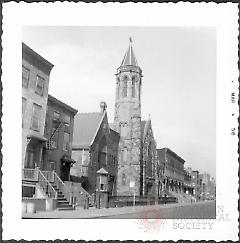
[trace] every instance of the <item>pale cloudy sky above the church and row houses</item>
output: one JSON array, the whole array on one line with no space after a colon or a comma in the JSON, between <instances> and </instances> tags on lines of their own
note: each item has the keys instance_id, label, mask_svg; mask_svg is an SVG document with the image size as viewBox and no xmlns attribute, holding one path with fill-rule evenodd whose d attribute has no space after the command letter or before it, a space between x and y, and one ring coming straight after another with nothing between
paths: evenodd
<instances>
[{"instance_id":1,"label":"pale cloudy sky above the church and row houses","mask_svg":"<svg viewBox=\"0 0 240 243\"><path fill-rule=\"evenodd\" d=\"M79 112L99 111L105 101L109 122L115 73L131 37L143 71L142 120L150 115L157 147L215 177L215 28L25 26L22 37L54 64L51 95Z\"/></svg>"}]
</instances>

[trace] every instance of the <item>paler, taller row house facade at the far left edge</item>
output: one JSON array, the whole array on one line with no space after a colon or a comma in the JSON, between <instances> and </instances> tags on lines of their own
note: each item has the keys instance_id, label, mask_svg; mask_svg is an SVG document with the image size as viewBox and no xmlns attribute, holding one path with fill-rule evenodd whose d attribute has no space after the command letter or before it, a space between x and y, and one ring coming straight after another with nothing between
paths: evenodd
<instances>
[{"instance_id":1,"label":"paler, taller row house facade at the far left edge","mask_svg":"<svg viewBox=\"0 0 240 243\"><path fill-rule=\"evenodd\" d=\"M41 167L50 72L53 64L22 44L22 166Z\"/></svg>"}]
</instances>

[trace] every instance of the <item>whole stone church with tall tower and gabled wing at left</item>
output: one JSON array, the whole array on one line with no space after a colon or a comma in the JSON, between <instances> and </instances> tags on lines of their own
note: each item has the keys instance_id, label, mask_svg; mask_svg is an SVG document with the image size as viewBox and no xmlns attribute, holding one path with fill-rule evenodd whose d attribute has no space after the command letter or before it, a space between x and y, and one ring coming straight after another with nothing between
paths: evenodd
<instances>
[{"instance_id":1,"label":"whole stone church with tall tower and gabled wing at left","mask_svg":"<svg viewBox=\"0 0 240 243\"><path fill-rule=\"evenodd\" d=\"M130 43L116 73L114 122L108 123L105 102L100 113L75 116L71 176L90 194L97 190L97 171L104 169L109 196L157 195L151 119L141 119L142 77Z\"/></svg>"}]
</instances>

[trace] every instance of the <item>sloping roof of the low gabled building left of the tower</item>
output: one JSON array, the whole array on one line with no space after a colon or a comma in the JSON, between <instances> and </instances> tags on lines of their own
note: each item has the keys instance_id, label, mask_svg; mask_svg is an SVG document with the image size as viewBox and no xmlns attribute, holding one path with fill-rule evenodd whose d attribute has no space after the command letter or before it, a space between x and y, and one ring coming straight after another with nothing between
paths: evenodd
<instances>
[{"instance_id":1,"label":"sloping roof of the low gabled building left of the tower","mask_svg":"<svg viewBox=\"0 0 240 243\"><path fill-rule=\"evenodd\" d=\"M73 147L90 146L106 113L79 113L74 117Z\"/></svg>"}]
</instances>

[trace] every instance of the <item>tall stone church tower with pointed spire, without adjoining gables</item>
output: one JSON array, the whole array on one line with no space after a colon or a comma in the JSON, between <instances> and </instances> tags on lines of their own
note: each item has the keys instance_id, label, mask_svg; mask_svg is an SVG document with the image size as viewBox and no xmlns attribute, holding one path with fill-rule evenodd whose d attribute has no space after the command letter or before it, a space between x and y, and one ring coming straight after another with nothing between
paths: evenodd
<instances>
[{"instance_id":1,"label":"tall stone church tower with pointed spire, without adjoining gables","mask_svg":"<svg viewBox=\"0 0 240 243\"><path fill-rule=\"evenodd\" d=\"M132 40L116 73L114 128L120 134L117 195L140 195L142 70Z\"/></svg>"}]
</instances>

